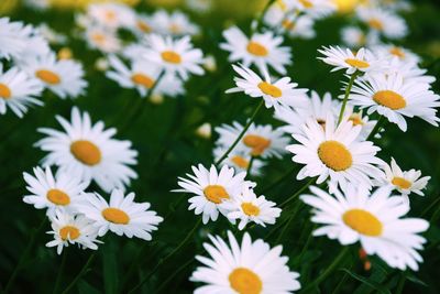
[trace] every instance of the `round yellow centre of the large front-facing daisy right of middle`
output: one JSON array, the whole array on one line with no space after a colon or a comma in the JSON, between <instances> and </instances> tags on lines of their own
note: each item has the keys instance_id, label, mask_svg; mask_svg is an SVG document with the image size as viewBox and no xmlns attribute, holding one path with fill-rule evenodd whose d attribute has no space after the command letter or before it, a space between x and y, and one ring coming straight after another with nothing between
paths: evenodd
<instances>
[{"instance_id":1,"label":"round yellow centre of the large front-facing daisy right of middle","mask_svg":"<svg viewBox=\"0 0 440 294\"><path fill-rule=\"evenodd\" d=\"M341 172L353 163L350 151L338 141L322 142L318 148L318 156L327 167Z\"/></svg>"}]
</instances>

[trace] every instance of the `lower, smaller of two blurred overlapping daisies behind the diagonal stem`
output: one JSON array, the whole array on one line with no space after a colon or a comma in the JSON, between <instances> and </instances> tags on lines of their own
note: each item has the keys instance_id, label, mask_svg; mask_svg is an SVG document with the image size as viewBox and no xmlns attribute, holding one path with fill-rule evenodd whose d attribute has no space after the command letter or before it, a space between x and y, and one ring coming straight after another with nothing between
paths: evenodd
<instances>
[{"instance_id":1,"label":"lower, smaller of two blurred overlapping daisies behind the diagonal stem","mask_svg":"<svg viewBox=\"0 0 440 294\"><path fill-rule=\"evenodd\" d=\"M216 159L216 162L228 151L227 146L218 146L213 150L213 155ZM222 161L221 165L229 165L235 168L237 172L246 172L249 168L249 165L251 164L251 157L252 155L249 154L249 152L245 152L243 150L232 150L229 154L228 157ZM252 166L250 174L252 175L261 175L262 174L262 168L264 167L265 163L258 159L253 159L252 160Z\"/></svg>"}]
</instances>

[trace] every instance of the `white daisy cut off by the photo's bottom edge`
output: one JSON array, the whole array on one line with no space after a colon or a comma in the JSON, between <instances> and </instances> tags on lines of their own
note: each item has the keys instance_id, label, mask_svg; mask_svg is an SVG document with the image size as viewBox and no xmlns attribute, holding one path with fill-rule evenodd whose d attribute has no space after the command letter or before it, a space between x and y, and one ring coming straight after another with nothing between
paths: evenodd
<instances>
[{"instance_id":1,"label":"white daisy cut off by the photo's bottom edge","mask_svg":"<svg viewBox=\"0 0 440 294\"><path fill-rule=\"evenodd\" d=\"M287 266L288 258L282 257L282 246L275 248L262 239L252 242L248 232L241 244L228 231L229 246L219 236L209 235L211 243L204 243L210 258L197 255L202 263L190 281L202 282L195 294L286 294L300 288L299 274Z\"/></svg>"}]
</instances>

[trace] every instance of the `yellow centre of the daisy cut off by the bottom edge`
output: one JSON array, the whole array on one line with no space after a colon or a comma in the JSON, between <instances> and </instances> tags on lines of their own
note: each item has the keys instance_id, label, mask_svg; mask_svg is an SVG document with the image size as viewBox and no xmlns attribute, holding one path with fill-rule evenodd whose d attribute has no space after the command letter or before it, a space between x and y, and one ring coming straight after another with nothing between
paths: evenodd
<instances>
[{"instance_id":1,"label":"yellow centre of the daisy cut off by the bottom edge","mask_svg":"<svg viewBox=\"0 0 440 294\"><path fill-rule=\"evenodd\" d=\"M229 274L231 287L239 294L260 294L263 282L260 276L245 268L237 268Z\"/></svg>"}]
</instances>

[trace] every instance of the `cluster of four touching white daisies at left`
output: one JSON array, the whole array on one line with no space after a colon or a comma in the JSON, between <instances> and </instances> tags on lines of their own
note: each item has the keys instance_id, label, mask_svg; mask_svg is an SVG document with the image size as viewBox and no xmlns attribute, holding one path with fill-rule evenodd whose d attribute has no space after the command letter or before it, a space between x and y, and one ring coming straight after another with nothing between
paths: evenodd
<instances>
[{"instance_id":1,"label":"cluster of four touching white daisies at left","mask_svg":"<svg viewBox=\"0 0 440 294\"><path fill-rule=\"evenodd\" d=\"M47 135L35 144L48 152L44 167L24 173L30 194L23 200L46 209L52 224L54 240L46 246L57 247L58 254L69 244L96 250L101 243L97 238L109 230L151 240L163 218L150 209L150 203L134 202L134 193L125 195L125 186L138 176L130 167L138 155L131 143L113 139L114 129L106 130L102 121L92 124L89 115L77 108L72 110L72 121L56 119L64 131L38 129ZM95 192L92 182L108 196Z\"/></svg>"}]
</instances>

